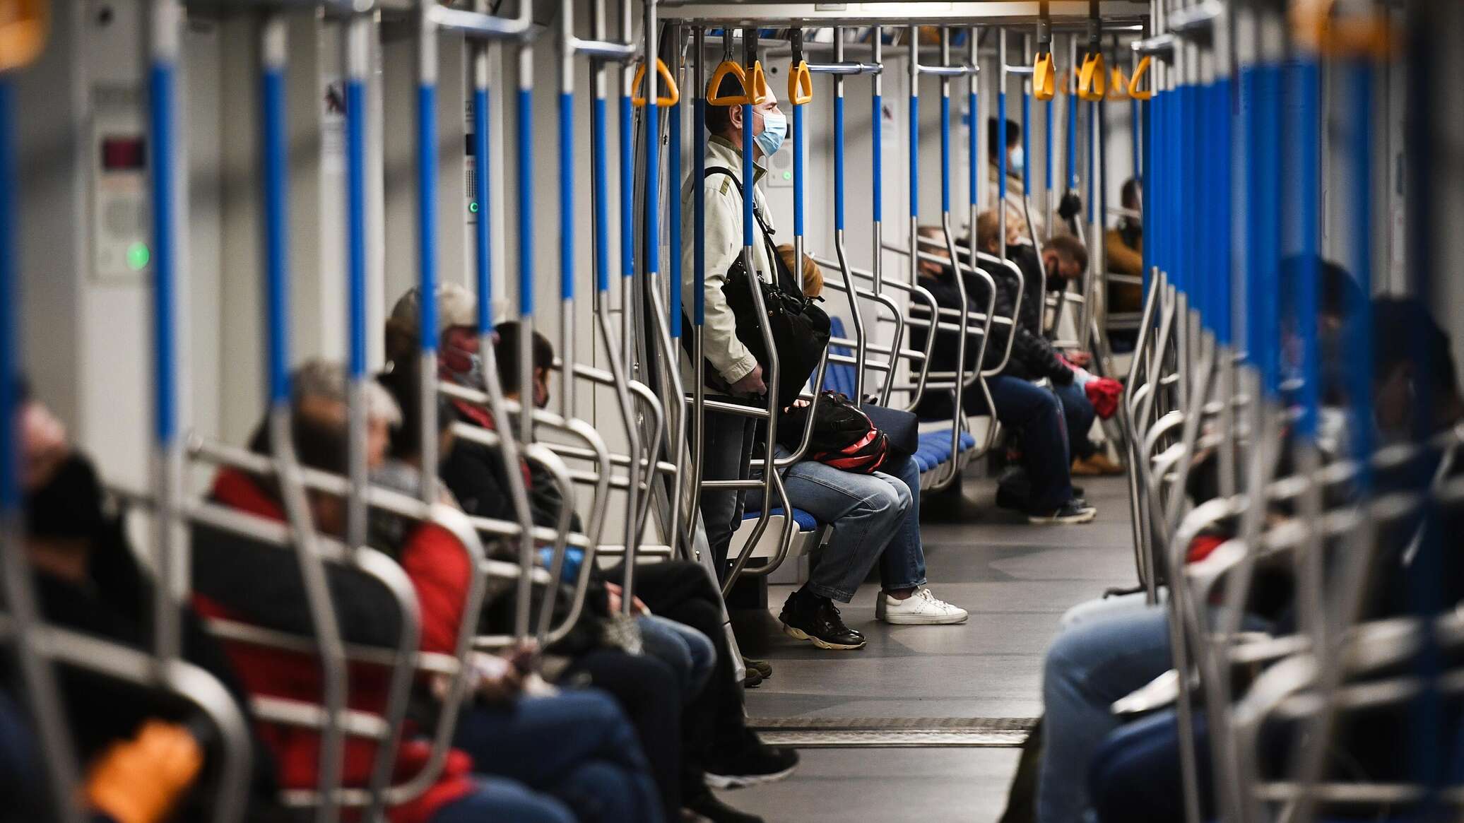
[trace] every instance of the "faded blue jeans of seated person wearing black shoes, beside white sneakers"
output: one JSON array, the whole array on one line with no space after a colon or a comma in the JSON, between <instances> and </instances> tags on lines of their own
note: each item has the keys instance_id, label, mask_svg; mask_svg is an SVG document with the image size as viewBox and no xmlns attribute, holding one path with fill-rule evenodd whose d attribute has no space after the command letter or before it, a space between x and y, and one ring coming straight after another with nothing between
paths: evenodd
<instances>
[{"instance_id":1,"label":"faded blue jeans of seated person wearing black shoes, beside white sneakers","mask_svg":"<svg viewBox=\"0 0 1464 823\"><path fill-rule=\"evenodd\" d=\"M783 457L788 453L777 447L774 454ZM783 488L793 508L833 527L804 589L848 603L886 546L900 533L914 501L911 488L883 472L855 474L817 460L801 460L785 469ZM748 494L748 507L761 505L763 491L754 489Z\"/></svg>"}]
</instances>

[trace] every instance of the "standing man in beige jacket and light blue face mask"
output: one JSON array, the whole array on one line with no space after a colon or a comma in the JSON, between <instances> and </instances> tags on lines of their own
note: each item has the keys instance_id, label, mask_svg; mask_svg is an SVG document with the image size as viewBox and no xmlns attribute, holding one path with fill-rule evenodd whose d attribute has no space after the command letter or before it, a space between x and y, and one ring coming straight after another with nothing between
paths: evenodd
<instances>
[{"instance_id":1,"label":"standing man in beige jacket and light blue face mask","mask_svg":"<svg viewBox=\"0 0 1464 823\"><path fill-rule=\"evenodd\" d=\"M723 79L717 95L736 95L742 86L736 78ZM752 130L752 163L755 164L751 185L742 180L742 129ZM773 215L767 208L767 199L758 190L757 183L766 174L766 161L776 154L788 136L788 119L777 108L777 97L769 89L767 100L752 107L751 122L744 122L741 105L712 105L707 104L707 151L706 168L726 170L728 174L707 174L697 180L694 174L687 176L681 186L682 224L695 226L695 204L701 198L704 204L704 277L706 277L706 319L703 329L703 354L706 363L707 395L714 400L748 400L767 392L763 368L736 337L736 316L728 306L722 294L728 269L742 255L742 195L752 192L752 208L758 211L763 223L772 231ZM755 231L755 228L754 228ZM682 256L682 288L688 294L687 302L694 299L697 287L695 271L697 237L694 231L687 233L681 249ZM763 278L772 280L776 269L769 259L767 249L761 239L752 245L752 269ZM690 340L690 338L688 338ZM682 370L687 375L687 385L695 379L691 362L684 360ZM752 458L755 419L741 414L719 414L707 411L704 451L701 474L707 480L735 480L750 476L750 461ZM717 574L726 574L728 549L732 533L742 520L742 508L747 496L745 489L713 489L707 488L701 494L701 517L706 523L707 542L712 546L712 556L716 558Z\"/></svg>"}]
</instances>

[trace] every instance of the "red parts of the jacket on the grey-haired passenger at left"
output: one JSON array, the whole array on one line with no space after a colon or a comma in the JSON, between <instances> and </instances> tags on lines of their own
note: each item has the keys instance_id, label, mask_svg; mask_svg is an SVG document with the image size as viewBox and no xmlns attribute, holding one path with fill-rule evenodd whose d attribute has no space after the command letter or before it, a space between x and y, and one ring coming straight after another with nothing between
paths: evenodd
<instances>
[{"instance_id":1,"label":"red parts of the jacket on the grey-haired passenger at left","mask_svg":"<svg viewBox=\"0 0 1464 823\"><path fill-rule=\"evenodd\" d=\"M271 520L284 520L280 504L243 472L233 469L220 472L214 480L212 496L220 504L239 511ZM261 551L277 549L262 546ZM471 574L471 565L461 543L439 526L422 524L407 537L400 562L417 593L422 614L422 649L452 653ZM202 595L193 595L193 606L205 617L249 622L247 615L224 608ZM225 641L224 647L250 694L309 703L322 700L321 665L315 656L240 641ZM347 674L350 684L346 697L347 706L363 712L382 712L386 703L388 679L388 671L381 666L353 663ZM269 745L278 760L280 785L287 789L315 788L319 775L319 732L265 722L261 722L259 726L261 740ZM430 747L422 741L407 740L410 735L410 728L403 729L392 782L411 778L427 763ZM363 738L346 738L343 785L366 785L376 745L375 741ZM473 791L471 769L473 761L466 753L449 751L441 775L425 794L388 808L391 823L426 823L438 808Z\"/></svg>"}]
</instances>

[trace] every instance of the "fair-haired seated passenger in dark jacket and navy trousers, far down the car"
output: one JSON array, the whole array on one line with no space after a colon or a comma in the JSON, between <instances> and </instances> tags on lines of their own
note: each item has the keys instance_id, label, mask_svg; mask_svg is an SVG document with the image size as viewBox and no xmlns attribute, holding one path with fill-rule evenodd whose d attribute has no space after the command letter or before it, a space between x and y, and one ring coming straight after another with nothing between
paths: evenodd
<instances>
[{"instance_id":1,"label":"fair-haired seated passenger in dark jacket and navy trousers, far down the car","mask_svg":"<svg viewBox=\"0 0 1464 823\"><path fill-rule=\"evenodd\" d=\"M976 221L978 245L988 247L990 233L997 230L994 212L982 212ZM1017 296L1016 277L1006 267L987 267L997 286L996 313L1010 316L1012 306ZM965 275L963 284L968 294L968 309L975 297L976 305L984 305L987 297L985 283L975 275ZM928 261L921 262L919 286L934 296L941 308L960 309L960 286L956 284L955 272L949 265ZM1023 297L1023 316L1019 321L1031 321L1035 312L1026 313L1028 305L1034 299ZM1017 359L1017 341L1022 332L1031 332L1029 324L1019 322L1017 338L1012 341L1012 359ZM912 331L912 344L922 349L928 334L922 328ZM982 368L996 369L1001 363L1001 356L1007 346L1006 334L993 325L991 341L987 344L985 362ZM931 370L957 370L956 332L940 331L935 337L935 347L931 356ZM968 340L966 369L976 368L976 346ZM1010 366L1009 360L1009 366ZM1066 366L1064 366L1066 368ZM1069 370L1070 373L1070 370ZM997 420L1004 426L1016 429L1022 438L1022 466L1026 469L1031 492L1023 501L1028 521L1034 524L1054 523L1088 523L1097 517L1098 511L1086 501L1073 494L1069 460L1069 438L1063 416L1063 404L1053 392L1034 385L1029 379L1012 373L1000 373L985 378L987 391L996 406L993 410ZM968 414L985 414L987 400L981 391L981 384L974 384L962 392L962 407ZM924 419L952 419L955 411L947 392L927 392L921 398L918 413Z\"/></svg>"}]
</instances>

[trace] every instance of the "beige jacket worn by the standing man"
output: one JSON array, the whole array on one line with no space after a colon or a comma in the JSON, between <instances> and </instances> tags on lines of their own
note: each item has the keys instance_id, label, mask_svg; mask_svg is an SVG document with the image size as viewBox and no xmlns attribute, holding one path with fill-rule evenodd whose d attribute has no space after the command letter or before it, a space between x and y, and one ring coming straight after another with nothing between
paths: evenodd
<instances>
[{"instance_id":1,"label":"beige jacket worn by the standing man","mask_svg":"<svg viewBox=\"0 0 1464 823\"><path fill-rule=\"evenodd\" d=\"M728 168L732 177L742 180L742 152L725 138L713 136L707 141L707 168ZM754 173L752 202L761 211L769 230L773 228L773 215L767 208L757 183L763 180L766 168L758 164ZM694 173L692 173L694 174ZM745 378L757 368L757 359L747 346L736 338L736 318L728 308L726 297L722 296L722 284L726 283L728 268L742 253L742 196L736 186L725 174L714 174L704 180L694 180L688 174L681 185L681 220L685 231L681 247L682 293L685 294L687 316L692 318L692 300L695 288L695 255L697 239L694 230L695 196L701 192L706 204L706 328L703 331L703 353L712 368L728 384ZM764 280L773 278L773 264L767 258L767 246L757 226L752 227L752 267ZM692 318L694 319L694 318ZM692 384L690 360L682 356L682 373L687 387ZM709 375L710 378L710 375ZM709 379L709 384L713 382Z\"/></svg>"}]
</instances>

